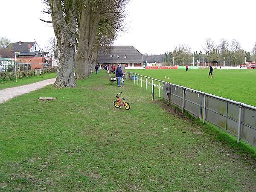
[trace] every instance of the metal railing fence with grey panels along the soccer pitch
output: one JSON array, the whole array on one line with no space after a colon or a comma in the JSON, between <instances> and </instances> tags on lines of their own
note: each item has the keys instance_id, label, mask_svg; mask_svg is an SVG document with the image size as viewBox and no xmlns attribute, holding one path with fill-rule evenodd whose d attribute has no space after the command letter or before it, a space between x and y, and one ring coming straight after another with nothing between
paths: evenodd
<instances>
[{"instance_id":1,"label":"metal railing fence with grey panels along the soccer pitch","mask_svg":"<svg viewBox=\"0 0 256 192\"><path fill-rule=\"evenodd\" d=\"M134 84L137 81L137 85L140 81L140 86L145 84L146 90L151 84L151 91L155 82L158 96L162 95L168 103L176 105L182 112L202 118L203 122L208 121L222 128L236 136L238 143L243 140L256 147L256 107L137 73L127 72L125 79Z\"/></svg>"}]
</instances>

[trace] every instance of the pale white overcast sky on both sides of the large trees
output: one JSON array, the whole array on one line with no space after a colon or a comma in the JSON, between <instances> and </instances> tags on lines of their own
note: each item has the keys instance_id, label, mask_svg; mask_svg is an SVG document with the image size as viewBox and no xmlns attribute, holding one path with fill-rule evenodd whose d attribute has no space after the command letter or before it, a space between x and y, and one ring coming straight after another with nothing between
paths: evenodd
<instances>
[{"instance_id":1,"label":"pale white overcast sky on both sides of the large trees","mask_svg":"<svg viewBox=\"0 0 256 192\"><path fill-rule=\"evenodd\" d=\"M37 41L41 49L54 35L41 0L0 0L0 37L12 42ZM200 51L205 38L216 44L236 38L251 51L256 42L255 0L131 0L126 29L114 45L133 45L142 53L160 54L188 44Z\"/></svg>"}]
</instances>

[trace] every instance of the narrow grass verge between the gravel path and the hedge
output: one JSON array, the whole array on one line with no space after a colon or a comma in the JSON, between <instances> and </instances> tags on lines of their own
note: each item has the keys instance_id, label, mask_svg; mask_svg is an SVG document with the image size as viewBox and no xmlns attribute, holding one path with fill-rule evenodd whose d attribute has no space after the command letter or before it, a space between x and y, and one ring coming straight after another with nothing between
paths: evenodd
<instances>
[{"instance_id":1,"label":"narrow grass verge between the gravel path and the hedge","mask_svg":"<svg viewBox=\"0 0 256 192\"><path fill-rule=\"evenodd\" d=\"M0 81L0 90L1 89L6 89L10 87L16 87L24 84L30 84L30 83L35 83L38 81L43 81L46 79L52 79L56 77L56 73L45 73L40 76L32 76L32 77L26 77L22 79L17 79L17 83L14 81Z\"/></svg>"}]
</instances>

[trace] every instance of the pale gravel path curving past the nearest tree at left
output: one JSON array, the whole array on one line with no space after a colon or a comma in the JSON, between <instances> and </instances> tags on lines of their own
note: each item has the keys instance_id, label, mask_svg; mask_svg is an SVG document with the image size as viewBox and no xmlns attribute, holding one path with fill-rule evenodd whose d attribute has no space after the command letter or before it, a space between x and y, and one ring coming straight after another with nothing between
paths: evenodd
<instances>
[{"instance_id":1,"label":"pale gravel path curving past the nearest tree at left","mask_svg":"<svg viewBox=\"0 0 256 192\"><path fill-rule=\"evenodd\" d=\"M32 84L26 84L18 87L12 87L12 88L0 90L0 103L3 103L13 97L22 95L24 93L29 93L31 91L41 89L48 84L53 84L55 80L56 78L47 79L47 80L39 81Z\"/></svg>"}]
</instances>

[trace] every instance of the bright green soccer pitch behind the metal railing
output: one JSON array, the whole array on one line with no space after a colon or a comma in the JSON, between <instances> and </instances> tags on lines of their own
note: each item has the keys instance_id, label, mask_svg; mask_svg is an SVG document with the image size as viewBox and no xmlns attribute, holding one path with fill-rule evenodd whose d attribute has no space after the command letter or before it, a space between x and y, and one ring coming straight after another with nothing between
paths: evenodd
<instances>
[{"instance_id":1,"label":"bright green soccer pitch behind the metal railing","mask_svg":"<svg viewBox=\"0 0 256 192\"><path fill-rule=\"evenodd\" d=\"M126 71L256 106L256 70L214 69L213 78L209 69Z\"/></svg>"}]
</instances>

